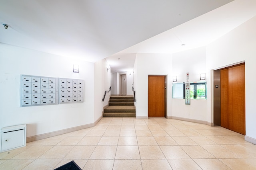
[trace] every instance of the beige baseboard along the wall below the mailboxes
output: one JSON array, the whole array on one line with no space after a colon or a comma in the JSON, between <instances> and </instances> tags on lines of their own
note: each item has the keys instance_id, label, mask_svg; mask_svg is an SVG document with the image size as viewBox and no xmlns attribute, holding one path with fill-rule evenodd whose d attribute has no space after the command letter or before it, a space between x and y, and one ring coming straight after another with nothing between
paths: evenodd
<instances>
[{"instance_id":1,"label":"beige baseboard along the wall below the mailboxes","mask_svg":"<svg viewBox=\"0 0 256 170\"><path fill-rule=\"evenodd\" d=\"M54 132L50 132L50 133L44 133L44 134L41 134L41 135L35 135L35 136L32 136L32 137L27 137L26 138L26 143L33 142L33 141L38 141L40 139L45 139L45 138L48 138L48 137L54 137L54 136L57 136L57 135L62 135L62 134L65 134L65 133L79 131L81 129L86 129L86 128L89 128L89 127L94 127L100 121L100 119L102 119L102 116L99 117L99 119L96 120L94 123L90 123L90 124L87 124L87 125L71 127L71 128L68 128L68 129L60 130L60 131L54 131Z\"/></svg>"}]
</instances>

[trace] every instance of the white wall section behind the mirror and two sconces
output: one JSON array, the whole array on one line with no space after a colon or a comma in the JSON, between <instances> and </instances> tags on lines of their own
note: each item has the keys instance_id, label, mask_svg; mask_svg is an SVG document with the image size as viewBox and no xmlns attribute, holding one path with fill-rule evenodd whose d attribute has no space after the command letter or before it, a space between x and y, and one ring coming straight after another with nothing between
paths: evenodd
<instances>
[{"instance_id":1,"label":"white wall section behind the mirror and two sconces","mask_svg":"<svg viewBox=\"0 0 256 170\"><path fill-rule=\"evenodd\" d=\"M186 82L187 72L190 82L200 82L200 73L206 73L206 47L172 54L172 74L177 82ZM190 105L185 105L184 99L172 99L173 117L207 121L206 114L206 100L191 99Z\"/></svg>"}]
</instances>

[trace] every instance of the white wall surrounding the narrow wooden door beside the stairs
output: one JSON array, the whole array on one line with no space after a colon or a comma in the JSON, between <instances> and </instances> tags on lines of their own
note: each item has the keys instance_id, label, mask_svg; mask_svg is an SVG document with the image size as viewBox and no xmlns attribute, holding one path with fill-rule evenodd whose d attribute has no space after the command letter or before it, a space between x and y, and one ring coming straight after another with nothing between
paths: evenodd
<instances>
[{"instance_id":1,"label":"white wall surrounding the narrow wooden door beside the stairs","mask_svg":"<svg viewBox=\"0 0 256 170\"><path fill-rule=\"evenodd\" d=\"M148 117L148 75L166 75L167 115L171 116L172 56L170 54L137 54L134 64L134 90L136 91L137 100L136 117Z\"/></svg>"}]
</instances>

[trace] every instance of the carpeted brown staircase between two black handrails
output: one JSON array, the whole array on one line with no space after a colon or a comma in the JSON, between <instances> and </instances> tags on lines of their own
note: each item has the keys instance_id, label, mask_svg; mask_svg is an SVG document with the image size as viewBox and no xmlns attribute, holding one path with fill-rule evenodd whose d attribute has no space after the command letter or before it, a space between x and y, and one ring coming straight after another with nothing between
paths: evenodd
<instances>
[{"instance_id":1,"label":"carpeted brown staircase between two black handrails","mask_svg":"<svg viewBox=\"0 0 256 170\"><path fill-rule=\"evenodd\" d=\"M110 96L103 117L136 117L133 96Z\"/></svg>"}]
</instances>

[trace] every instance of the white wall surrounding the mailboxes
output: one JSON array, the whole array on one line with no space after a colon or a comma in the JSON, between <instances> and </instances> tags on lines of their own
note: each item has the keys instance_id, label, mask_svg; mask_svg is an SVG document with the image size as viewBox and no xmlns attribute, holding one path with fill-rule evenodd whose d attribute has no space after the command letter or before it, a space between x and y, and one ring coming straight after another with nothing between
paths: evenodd
<instances>
[{"instance_id":1,"label":"white wall surrounding the mailboxes","mask_svg":"<svg viewBox=\"0 0 256 170\"><path fill-rule=\"evenodd\" d=\"M83 79L84 102L20 107L20 74ZM27 124L31 137L94 123L93 63L0 43L0 89L0 128Z\"/></svg>"}]
</instances>

